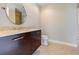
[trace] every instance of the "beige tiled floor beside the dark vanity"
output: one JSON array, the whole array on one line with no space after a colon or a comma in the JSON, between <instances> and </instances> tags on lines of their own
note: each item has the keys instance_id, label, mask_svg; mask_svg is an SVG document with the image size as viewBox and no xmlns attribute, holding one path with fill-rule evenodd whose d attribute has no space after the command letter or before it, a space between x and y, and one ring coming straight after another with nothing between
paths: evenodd
<instances>
[{"instance_id":1,"label":"beige tiled floor beside the dark vanity","mask_svg":"<svg viewBox=\"0 0 79 59\"><path fill-rule=\"evenodd\" d=\"M49 43L48 46L40 46L33 55L78 55L79 48L67 45Z\"/></svg>"}]
</instances>

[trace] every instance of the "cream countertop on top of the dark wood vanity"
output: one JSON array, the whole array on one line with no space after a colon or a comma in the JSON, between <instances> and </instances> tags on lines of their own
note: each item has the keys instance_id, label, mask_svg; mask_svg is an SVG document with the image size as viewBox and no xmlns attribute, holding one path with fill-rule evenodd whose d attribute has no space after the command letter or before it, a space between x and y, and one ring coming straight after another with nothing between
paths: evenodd
<instances>
[{"instance_id":1,"label":"cream countertop on top of the dark wood vanity","mask_svg":"<svg viewBox=\"0 0 79 59\"><path fill-rule=\"evenodd\" d=\"M24 32L31 32L31 31L36 31L36 30L40 30L40 29L3 30L3 31L1 30L0 37L20 34L20 33L24 33Z\"/></svg>"}]
</instances>

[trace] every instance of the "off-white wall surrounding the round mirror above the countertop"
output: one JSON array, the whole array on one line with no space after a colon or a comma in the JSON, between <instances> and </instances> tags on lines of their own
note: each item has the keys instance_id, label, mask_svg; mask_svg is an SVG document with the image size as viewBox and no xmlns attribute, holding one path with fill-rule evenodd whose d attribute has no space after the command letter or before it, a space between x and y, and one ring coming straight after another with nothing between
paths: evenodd
<instances>
[{"instance_id":1,"label":"off-white wall surrounding the round mirror above the countertop","mask_svg":"<svg viewBox=\"0 0 79 59\"><path fill-rule=\"evenodd\" d=\"M27 17L24 19L24 23L19 26L25 26L25 27L39 27L40 22L39 22L39 8L35 4L23 4ZM4 6L4 4L0 4L0 7ZM7 18L4 10L0 9L0 26L16 26L12 24L9 19Z\"/></svg>"}]
</instances>

